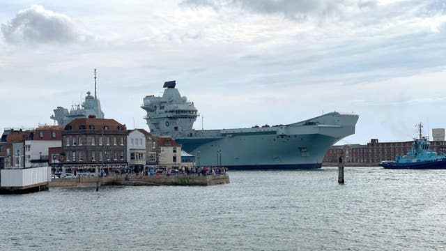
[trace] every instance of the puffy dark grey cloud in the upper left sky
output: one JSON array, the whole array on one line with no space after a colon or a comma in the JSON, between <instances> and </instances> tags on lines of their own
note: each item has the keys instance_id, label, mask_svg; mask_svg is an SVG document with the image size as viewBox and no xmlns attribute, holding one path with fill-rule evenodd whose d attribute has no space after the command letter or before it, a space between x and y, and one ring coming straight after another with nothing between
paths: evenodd
<instances>
[{"instance_id":1,"label":"puffy dark grey cloud in the upper left sky","mask_svg":"<svg viewBox=\"0 0 446 251\"><path fill-rule=\"evenodd\" d=\"M1 24L1 33L9 44L69 44L91 38L67 15L38 5L20 10L13 19Z\"/></svg>"}]
</instances>

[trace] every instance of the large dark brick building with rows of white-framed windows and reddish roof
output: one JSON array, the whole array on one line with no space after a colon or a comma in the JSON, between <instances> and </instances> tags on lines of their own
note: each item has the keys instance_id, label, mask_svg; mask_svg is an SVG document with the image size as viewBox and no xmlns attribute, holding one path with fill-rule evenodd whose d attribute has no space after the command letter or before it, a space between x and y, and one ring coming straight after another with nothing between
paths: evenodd
<instances>
[{"instance_id":1,"label":"large dark brick building with rows of white-framed windows and reddish roof","mask_svg":"<svg viewBox=\"0 0 446 251\"><path fill-rule=\"evenodd\" d=\"M64 169L127 167L127 129L114 119L75 119L62 132Z\"/></svg>"}]
</instances>

